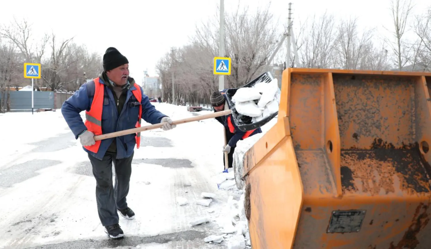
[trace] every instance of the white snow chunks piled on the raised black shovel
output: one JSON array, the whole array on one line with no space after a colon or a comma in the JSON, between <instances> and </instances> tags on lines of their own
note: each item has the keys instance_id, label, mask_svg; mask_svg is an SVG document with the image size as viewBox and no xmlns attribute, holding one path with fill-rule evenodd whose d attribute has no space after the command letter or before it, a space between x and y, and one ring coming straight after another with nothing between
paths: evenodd
<instances>
[{"instance_id":1,"label":"white snow chunks piled on the raised black shovel","mask_svg":"<svg viewBox=\"0 0 431 249\"><path fill-rule=\"evenodd\" d=\"M259 82L253 87L243 87L232 96L235 108L239 114L252 117L252 122L271 116L278 111L280 104L280 89L278 80Z\"/></svg>"}]
</instances>

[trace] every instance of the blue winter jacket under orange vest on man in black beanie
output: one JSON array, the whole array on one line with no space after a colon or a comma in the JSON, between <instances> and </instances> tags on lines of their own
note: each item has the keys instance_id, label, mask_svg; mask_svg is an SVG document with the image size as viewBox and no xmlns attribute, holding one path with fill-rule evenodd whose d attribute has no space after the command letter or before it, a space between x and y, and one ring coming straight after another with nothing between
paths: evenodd
<instances>
[{"instance_id":1,"label":"blue winter jacket under orange vest on man in black beanie","mask_svg":"<svg viewBox=\"0 0 431 249\"><path fill-rule=\"evenodd\" d=\"M128 89L127 97L125 100L124 107L120 114L118 114L116 101L114 99L113 92L106 86L103 78L100 77L100 83L104 87L104 101L103 101L103 111L102 111L102 133L118 132L125 129L135 128L136 122L138 120L139 114L139 104L136 102L132 91L135 90L134 80L130 80L130 89ZM108 83L109 84L109 83ZM141 87L140 87L141 88ZM82 121L80 112L90 111L91 103L94 97L94 80L83 84L78 91L75 92L69 99L67 99L62 107L61 112L66 120L66 123L75 135L75 139L78 139L78 135L84 132L87 127ZM147 123L156 124L160 123L162 117L167 117L160 111L157 111L154 105L151 104L147 95L144 95L142 88L142 119ZM116 158L130 157L134 151L136 145L135 133L119 136L116 138L107 138L101 141L100 148L97 154L84 149L91 156L96 157L99 160L103 159L106 150L114 139L116 139L117 154Z\"/></svg>"}]
</instances>

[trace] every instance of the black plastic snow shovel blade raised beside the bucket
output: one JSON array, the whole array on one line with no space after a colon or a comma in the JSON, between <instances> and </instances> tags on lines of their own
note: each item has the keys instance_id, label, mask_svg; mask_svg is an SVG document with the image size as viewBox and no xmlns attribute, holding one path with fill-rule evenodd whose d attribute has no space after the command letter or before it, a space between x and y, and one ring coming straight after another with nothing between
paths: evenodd
<instances>
[{"instance_id":1,"label":"black plastic snow shovel blade raised beside the bucket","mask_svg":"<svg viewBox=\"0 0 431 249\"><path fill-rule=\"evenodd\" d=\"M254 85L256 85L257 83L260 82L266 82L269 83L272 80L274 80L274 77L272 77L270 72L265 72L263 74L261 74L259 77L257 77L256 79L250 81L249 83L245 84L244 86L238 87L238 88L230 88L226 90L226 99L228 101L228 105L232 110L232 117L234 118L234 123L236 126L238 126L238 129L240 129L243 132L246 131L250 131L250 130L254 130L257 129L259 127L264 126L266 123L268 123L269 121L271 121L275 116L278 115L278 111L271 114L268 117L265 117L264 119L258 121L258 122L252 122L252 117L249 116L245 116L242 114L239 114L235 108L235 103L232 101L232 97L235 95L235 93L237 92L238 89L243 88L243 87L253 87Z\"/></svg>"}]
</instances>

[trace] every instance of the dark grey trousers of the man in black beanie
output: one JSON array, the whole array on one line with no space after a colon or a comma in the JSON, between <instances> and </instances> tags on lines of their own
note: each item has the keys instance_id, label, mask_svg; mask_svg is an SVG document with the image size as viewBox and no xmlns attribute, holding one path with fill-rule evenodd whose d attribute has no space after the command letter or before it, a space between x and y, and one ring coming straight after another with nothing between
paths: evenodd
<instances>
[{"instance_id":1,"label":"dark grey trousers of the man in black beanie","mask_svg":"<svg viewBox=\"0 0 431 249\"><path fill-rule=\"evenodd\" d=\"M129 192L133 155L115 159L115 154L106 153L103 160L88 155L96 178L97 212L103 226L117 224L119 221L117 209L127 207L126 196ZM112 185L112 163L115 167L115 185Z\"/></svg>"}]
</instances>

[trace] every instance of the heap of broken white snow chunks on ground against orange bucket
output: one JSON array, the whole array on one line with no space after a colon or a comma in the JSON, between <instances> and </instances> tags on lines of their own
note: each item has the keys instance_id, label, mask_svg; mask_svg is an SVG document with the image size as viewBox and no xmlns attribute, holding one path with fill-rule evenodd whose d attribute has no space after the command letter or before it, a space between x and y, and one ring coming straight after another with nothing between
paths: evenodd
<instances>
[{"instance_id":1,"label":"heap of broken white snow chunks on ground against orange bucket","mask_svg":"<svg viewBox=\"0 0 431 249\"><path fill-rule=\"evenodd\" d=\"M244 198L242 194L239 201L229 196L225 209L217 220L220 234L213 234L204 239L208 243L221 243L226 241L228 249L250 249L250 233L248 221L244 211Z\"/></svg>"}]
</instances>

